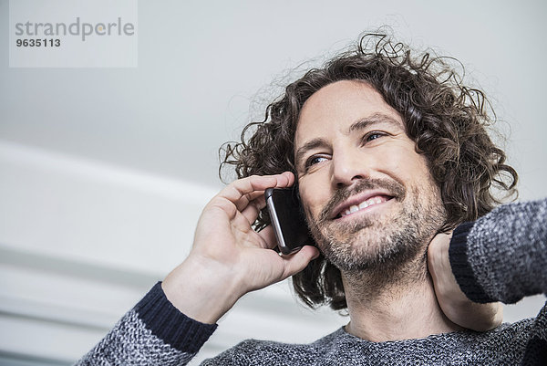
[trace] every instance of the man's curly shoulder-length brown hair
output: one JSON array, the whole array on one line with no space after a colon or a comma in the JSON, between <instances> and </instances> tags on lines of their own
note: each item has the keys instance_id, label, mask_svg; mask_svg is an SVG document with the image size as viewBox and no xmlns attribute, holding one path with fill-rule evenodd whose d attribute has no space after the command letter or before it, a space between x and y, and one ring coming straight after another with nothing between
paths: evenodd
<instances>
[{"instance_id":1,"label":"man's curly shoulder-length brown hair","mask_svg":"<svg viewBox=\"0 0 547 366\"><path fill-rule=\"evenodd\" d=\"M462 84L451 66L454 61L429 52L415 56L408 46L386 35L361 37L356 47L289 84L284 95L268 105L263 121L244 128L241 142L224 144L221 170L233 165L239 178L296 173L294 133L304 102L335 81L360 80L377 89L400 113L416 151L426 156L447 211L441 230L475 220L501 203L493 189L508 196L516 193L518 176L505 163L505 153L490 140L487 129L495 114L488 99L480 89ZM255 225L261 229L269 222L263 210ZM347 307L340 271L325 256L294 275L293 285L312 308Z\"/></svg>"}]
</instances>

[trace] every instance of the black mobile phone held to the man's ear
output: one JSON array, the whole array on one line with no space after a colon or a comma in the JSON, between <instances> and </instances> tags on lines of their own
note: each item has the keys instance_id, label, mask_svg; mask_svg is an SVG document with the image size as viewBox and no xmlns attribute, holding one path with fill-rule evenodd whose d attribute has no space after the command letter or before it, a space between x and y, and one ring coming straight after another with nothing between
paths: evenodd
<instances>
[{"instance_id":1,"label":"black mobile phone held to the man's ear","mask_svg":"<svg viewBox=\"0 0 547 366\"><path fill-rule=\"evenodd\" d=\"M296 188L268 188L264 196L281 253L291 254L314 244Z\"/></svg>"}]
</instances>

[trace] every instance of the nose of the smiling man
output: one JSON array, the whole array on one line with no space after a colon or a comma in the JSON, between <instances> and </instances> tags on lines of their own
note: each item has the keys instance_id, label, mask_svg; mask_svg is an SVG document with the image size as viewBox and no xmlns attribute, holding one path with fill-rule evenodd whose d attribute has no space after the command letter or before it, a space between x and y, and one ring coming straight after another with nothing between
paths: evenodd
<instances>
[{"instance_id":1,"label":"nose of the smiling man","mask_svg":"<svg viewBox=\"0 0 547 366\"><path fill-rule=\"evenodd\" d=\"M370 162L363 154L338 152L331 162L333 188L349 186L361 179L370 178Z\"/></svg>"}]
</instances>

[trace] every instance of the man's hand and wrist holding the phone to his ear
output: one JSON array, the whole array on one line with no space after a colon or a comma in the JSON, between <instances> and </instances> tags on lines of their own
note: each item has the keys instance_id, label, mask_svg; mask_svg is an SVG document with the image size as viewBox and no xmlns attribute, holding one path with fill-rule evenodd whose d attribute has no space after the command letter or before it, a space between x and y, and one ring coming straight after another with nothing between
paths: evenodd
<instances>
[{"instance_id":1,"label":"man's hand and wrist holding the phone to his ear","mask_svg":"<svg viewBox=\"0 0 547 366\"><path fill-rule=\"evenodd\" d=\"M190 255L162 283L170 302L191 319L216 323L247 292L300 272L319 255L304 246L279 256L274 230L251 226L265 207L264 191L289 187L293 173L251 176L226 186L201 213Z\"/></svg>"}]
</instances>

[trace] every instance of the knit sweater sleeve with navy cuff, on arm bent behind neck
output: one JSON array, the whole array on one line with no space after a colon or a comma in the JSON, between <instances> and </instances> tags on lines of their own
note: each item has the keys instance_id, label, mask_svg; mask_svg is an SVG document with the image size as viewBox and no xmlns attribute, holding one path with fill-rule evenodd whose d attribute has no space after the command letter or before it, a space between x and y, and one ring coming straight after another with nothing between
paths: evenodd
<instances>
[{"instance_id":1,"label":"knit sweater sleeve with navy cuff, on arm bent behind neck","mask_svg":"<svg viewBox=\"0 0 547 366\"><path fill-rule=\"evenodd\" d=\"M547 293L547 199L505 204L454 230L450 265L473 301Z\"/></svg>"}]
</instances>

